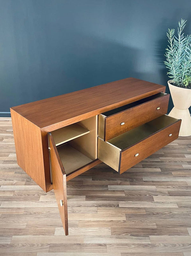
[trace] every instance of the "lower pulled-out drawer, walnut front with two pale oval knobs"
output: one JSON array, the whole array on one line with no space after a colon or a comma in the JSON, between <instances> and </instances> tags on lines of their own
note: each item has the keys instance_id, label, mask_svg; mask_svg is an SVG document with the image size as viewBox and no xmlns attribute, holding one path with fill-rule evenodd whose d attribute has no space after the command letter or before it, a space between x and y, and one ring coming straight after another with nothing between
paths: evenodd
<instances>
[{"instance_id":1,"label":"lower pulled-out drawer, walnut front with two pale oval knobs","mask_svg":"<svg viewBox=\"0 0 191 256\"><path fill-rule=\"evenodd\" d=\"M98 137L98 159L119 174L178 138L181 120L160 116L108 142Z\"/></svg>"}]
</instances>

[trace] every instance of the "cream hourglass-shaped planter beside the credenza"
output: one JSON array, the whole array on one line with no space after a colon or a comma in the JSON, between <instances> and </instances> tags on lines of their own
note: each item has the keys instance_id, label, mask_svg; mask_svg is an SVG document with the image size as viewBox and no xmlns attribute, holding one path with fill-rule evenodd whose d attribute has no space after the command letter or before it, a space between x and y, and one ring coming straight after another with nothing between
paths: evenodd
<instances>
[{"instance_id":1,"label":"cream hourglass-shaped planter beside the credenza","mask_svg":"<svg viewBox=\"0 0 191 256\"><path fill-rule=\"evenodd\" d=\"M169 116L182 119L179 136L191 136L191 116L188 108L191 105L191 89L181 88L170 84L168 86L173 99L174 107Z\"/></svg>"}]
</instances>

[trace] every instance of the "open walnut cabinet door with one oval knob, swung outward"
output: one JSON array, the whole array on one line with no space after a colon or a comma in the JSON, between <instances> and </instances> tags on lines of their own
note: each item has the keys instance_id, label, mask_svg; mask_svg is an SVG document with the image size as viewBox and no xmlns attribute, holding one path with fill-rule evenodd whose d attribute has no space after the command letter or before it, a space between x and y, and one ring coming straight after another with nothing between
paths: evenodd
<instances>
[{"instance_id":1,"label":"open walnut cabinet door with one oval knob, swung outward","mask_svg":"<svg viewBox=\"0 0 191 256\"><path fill-rule=\"evenodd\" d=\"M53 136L49 133L50 161L54 194L58 204L65 235L68 235L66 173L60 160Z\"/></svg>"}]
</instances>

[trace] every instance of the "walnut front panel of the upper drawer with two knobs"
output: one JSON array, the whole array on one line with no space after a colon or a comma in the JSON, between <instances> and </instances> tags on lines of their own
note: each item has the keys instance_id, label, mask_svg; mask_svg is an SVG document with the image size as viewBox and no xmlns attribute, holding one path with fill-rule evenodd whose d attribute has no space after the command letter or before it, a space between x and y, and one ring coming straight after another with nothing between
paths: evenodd
<instances>
[{"instance_id":1,"label":"walnut front panel of the upper drawer with two knobs","mask_svg":"<svg viewBox=\"0 0 191 256\"><path fill-rule=\"evenodd\" d=\"M168 109L169 94L145 102L138 106L124 110L122 112L105 117L104 141L108 141L135 127L147 123L161 115L166 114ZM99 117L102 121L103 117ZM103 130L103 128L101 128Z\"/></svg>"}]
</instances>

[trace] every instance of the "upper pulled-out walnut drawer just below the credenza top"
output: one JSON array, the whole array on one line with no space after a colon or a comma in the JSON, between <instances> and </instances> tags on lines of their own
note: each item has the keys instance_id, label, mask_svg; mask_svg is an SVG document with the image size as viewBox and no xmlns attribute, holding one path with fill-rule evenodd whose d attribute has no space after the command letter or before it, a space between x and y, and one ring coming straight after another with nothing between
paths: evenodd
<instances>
[{"instance_id":1,"label":"upper pulled-out walnut drawer just below the credenza top","mask_svg":"<svg viewBox=\"0 0 191 256\"><path fill-rule=\"evenodd\" d=\"M98 115L98 135L108 141L167 113L169 94L158 93Z\"/></svg>"}]
</instances>

